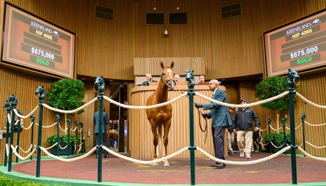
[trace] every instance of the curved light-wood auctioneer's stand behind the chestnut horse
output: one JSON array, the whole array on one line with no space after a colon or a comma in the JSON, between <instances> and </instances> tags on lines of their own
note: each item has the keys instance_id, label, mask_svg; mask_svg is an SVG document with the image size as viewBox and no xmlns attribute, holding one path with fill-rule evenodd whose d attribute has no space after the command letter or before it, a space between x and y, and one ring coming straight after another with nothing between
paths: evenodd
<instances>
[{"instance_id":1,"label":"curved light-wood auctioneer's stand behind the chestnut horse","mask_svg":"<svg viewBox=\"0 0 326 186\"><path fill-rule=\"evenodd\" d=\"M147 97L157 89L157 86L138 86L132 88L131 91L131 105L144 106L146 105ZM212 97L212 91L208 86L195 86L198 93ZM173 91L169 91L169 99L172 100L182 93L187 93L188 87L186 85L178 85ZM201 97L194 96L194 102L203 104L210 103ZM189 99L182 97L182 99L172 103L172 124L169 132L168 154L172 154L184 147L190 145L189 143ZM130 111L130 152L132 158L153 158L153 134L151 132L151 124L147 120L146 111L144 109L131 109ZM203 111L209 112L209 111ZM201 124L205 127L205 120L198 115L197 109L194 107L194 133L195 145L207 151L214 156L214 146L212 142L212 120L207 120L207 142L205 143L205 133L200 131L199 118ZM225 140L226 141L226 140ZM162 140L159 142L159 157L162 157L164 145ZM226 156L228 154L225 154ZM195 156L198 158L205 158L203 154L195 151ZM189 158L189 151L186 151L175 158Z\"/></svg>"}]
</instances>

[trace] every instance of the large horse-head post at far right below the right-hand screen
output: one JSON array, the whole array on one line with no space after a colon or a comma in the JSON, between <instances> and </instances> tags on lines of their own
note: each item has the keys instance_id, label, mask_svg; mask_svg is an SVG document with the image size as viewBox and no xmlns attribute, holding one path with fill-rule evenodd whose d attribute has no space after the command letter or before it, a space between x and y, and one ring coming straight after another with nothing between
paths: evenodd
<instances>
[{"instance_id":1,"label":"large horse-head post at far right below the right-hand screen","mask_svg":"<svg viewBox=\"0 0 326 186\"><path fill-rule=\"evenodd\" d=\"M294 123L294 95L295 95L295 82L300 82L300 76L297 71L289 69L286 75L286 80L289 84L289 109L290 109L290 135L291 135L291 171L292 171L292 184L298 184L297 181L297 162L295 157L295 123Z\"/></svg>"}]
</instances>

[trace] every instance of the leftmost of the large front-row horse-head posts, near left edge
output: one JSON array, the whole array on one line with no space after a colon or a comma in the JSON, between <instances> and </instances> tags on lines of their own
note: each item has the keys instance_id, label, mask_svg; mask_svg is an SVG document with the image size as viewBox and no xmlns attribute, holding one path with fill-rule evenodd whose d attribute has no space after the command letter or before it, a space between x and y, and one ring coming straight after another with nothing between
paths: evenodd
<instances>
[{"instance_id":1,"label":"leftmost of the large front-row horse-head posts, near left edge","mask_svg":"<svg viewBox=\"0 0 326 186\"><path fill-rule=\"evenodd\" d=\"M18 100L17 97L15 97L15 95L11 95L10 97L8 97L7 102L11 102L11 124L10 124L10 143L9 143L9 157L8 157L8 171L11 171L11 167L12 167L12 149L11 149L11 145L14 142L14 129L15 129L15 111L14 109L16 109Z\"/></svg>"}]
</instances>

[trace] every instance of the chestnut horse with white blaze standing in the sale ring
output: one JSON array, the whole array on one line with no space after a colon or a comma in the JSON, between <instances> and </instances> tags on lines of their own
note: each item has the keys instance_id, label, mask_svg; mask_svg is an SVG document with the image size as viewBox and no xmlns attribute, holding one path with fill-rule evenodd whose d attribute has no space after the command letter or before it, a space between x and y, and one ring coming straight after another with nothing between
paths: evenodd
<instances>
[{"instance_id":1,"label":"chestnut horse with white blaze standing in the sale ring","mask_svg":"<svg viewBox=\"0 0 326 186\"><path fill-rule=\"evenodd\" d=\"M160 104L168 101L168 91L173 90L175 86L174 73L172 71L173 62L171 66L165 66L161 62L161 67L163 69L160 82L158 83L156 91L148 97L146 105ZM171 127L172 118L172 106L168 104L166 106L161 106L154 109L147 109L146 115L148 121L151 123L151 130L153 133L153 144L154 144L154 160L157 159L157 144L158 139L162 138L162 127L164 129L163 144L164 144L164 154L167 154L168 136ZM154 163L157 165L157 163ZM164 161L164 166L170 166L169 161Z\"/></svg>"}]
</instances>

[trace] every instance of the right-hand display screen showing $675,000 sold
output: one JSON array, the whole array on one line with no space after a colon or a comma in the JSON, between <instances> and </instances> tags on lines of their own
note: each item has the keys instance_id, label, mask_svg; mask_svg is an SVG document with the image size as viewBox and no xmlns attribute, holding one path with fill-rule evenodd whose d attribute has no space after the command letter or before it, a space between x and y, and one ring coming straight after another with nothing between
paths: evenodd
<instances>
[{"instance_id":1,"label":"right-hand display screen showing $675,000 sold","mask_svg":"<svg viewBox=\"0 0 326 186\"><path fill-rule=\"evenodd\" d=\"M326 65L326 10L264 33L267 76Z\"/></svg>"}]
</instances>

